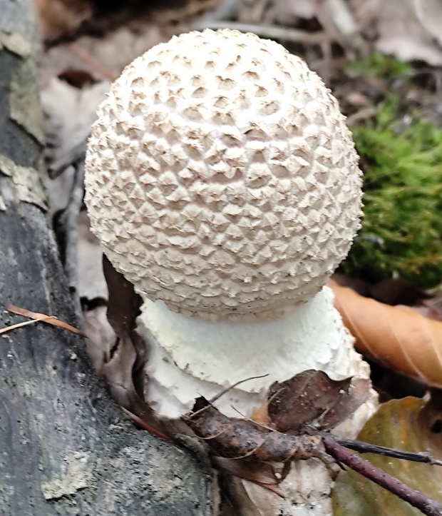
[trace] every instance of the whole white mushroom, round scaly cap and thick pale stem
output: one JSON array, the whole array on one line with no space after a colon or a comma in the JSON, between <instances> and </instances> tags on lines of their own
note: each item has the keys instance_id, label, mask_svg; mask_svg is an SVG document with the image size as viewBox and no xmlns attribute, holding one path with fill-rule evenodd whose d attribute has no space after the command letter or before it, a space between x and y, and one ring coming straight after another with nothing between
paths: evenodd
<instances>
[{"instance_id":1,"label":"whole white mushroom, round scaly cap and thick pale stem","mask_svg":"<svg viewBox=\"0 0 442 516\"><path fill-rule=\"evenodd\" d=\"M86 204L145 301L160 415L261 375L220 410L250 416L307 369L369 378L324 287L360 226L358 156L336 99L281 45L205 30L135 59L98 109Z\"/></svg>"}]
</instances>

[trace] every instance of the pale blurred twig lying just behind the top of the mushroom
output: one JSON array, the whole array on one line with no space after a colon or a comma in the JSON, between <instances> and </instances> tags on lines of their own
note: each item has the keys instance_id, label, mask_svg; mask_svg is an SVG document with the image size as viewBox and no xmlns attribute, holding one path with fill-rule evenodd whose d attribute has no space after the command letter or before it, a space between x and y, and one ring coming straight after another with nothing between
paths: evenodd
<instances>
[{"instance_id":1,"label":"pale blurred twig lying just behind the top of the mushroom","mask_svg":"<svg viewBox=\"0 0 442 516\"><path fill-rule=\"evenodd\" d=\"M324 41L332 41L332 37L324 31L307 32L275 25L241 24L236 21L202 21L197 25L197 29L235 29L241 32L253 32L262 38L282 39L308 45L319 45Z\"/></svg>"}]
</instances>

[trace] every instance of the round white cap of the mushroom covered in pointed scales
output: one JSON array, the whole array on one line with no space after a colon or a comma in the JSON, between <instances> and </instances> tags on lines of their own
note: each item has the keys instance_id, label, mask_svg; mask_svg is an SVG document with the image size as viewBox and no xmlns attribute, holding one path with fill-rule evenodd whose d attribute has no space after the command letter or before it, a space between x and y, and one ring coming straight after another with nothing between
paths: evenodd
<instances>
[{"instance_id":1,"label":"round white cap of the mushroom covered in pointed scales","mask_svg":"<svg viewBox=\"0 0 442 516\"><path fill-rule=\"evenodd\" d=\"M98 111L86 203L135 289L211 319L309 300L359 228L361 173L336 99L297 56L237 31L135 59Z\"/></svg>"}]
</instances>

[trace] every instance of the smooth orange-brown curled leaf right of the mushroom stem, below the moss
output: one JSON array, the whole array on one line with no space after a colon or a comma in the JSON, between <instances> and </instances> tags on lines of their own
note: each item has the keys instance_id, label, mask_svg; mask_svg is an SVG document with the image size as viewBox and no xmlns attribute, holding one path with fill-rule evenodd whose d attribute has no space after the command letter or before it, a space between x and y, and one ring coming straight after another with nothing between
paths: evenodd
<instances>
[{"instance_id":1,"label":"smooth orange-brown curled leaf right of the mushroom stem, below the moss","mask_svg":"<svg viewBox=\"0 0 442 516\"><path fill-rule=\"evenodd\" d=\"M356 350L386 367L442 388L442 323L406 306L389 306L330 284Z\"/></svg>"}]
</instances>

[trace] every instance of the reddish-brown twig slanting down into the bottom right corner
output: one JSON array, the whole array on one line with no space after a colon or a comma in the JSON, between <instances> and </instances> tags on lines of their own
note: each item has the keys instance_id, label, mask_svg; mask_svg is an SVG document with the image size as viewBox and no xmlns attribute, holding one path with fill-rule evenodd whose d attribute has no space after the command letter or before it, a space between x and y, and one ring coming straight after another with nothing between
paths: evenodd
<instances>
[{"instance_id":1,"label":"reddish-brown twig slanting down into the bottom right corner","mask_svg":"<svg viewBox=\"0 0 442 516\"><path fill-rule=\"evenodd\" d=\"M414 490L404 484L397 478L392 477L385 471L371 464L368 460L364 460L353 452L347 450L346 447L336 442L336 438L327 432L318 432L312 428L307 428L309 435L321 435L325 449L329 455L338 460L341 464L350 467L360 475L368 478L372 482L387 491L393 493L397 497L408 502L416 509L420 510L426 516L442 516L442 506L423 493Z\"/></svg>"}]
</instances>

